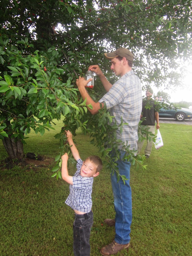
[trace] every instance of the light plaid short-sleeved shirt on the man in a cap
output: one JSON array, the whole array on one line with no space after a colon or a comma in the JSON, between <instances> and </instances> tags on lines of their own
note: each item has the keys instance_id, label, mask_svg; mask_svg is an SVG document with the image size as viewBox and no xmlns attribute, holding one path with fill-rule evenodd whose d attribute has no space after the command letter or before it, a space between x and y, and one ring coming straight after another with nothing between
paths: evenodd
<instances>
[{"instance_id":1,"label":"light plaid short-sleeved shirt on the man in a cap","mask_svg":"<svg viewBox=\"0 0 192 256\"><path fill-rule=\"evenodd\" d=\"M111 89L99 100L105 102L116 124L129 123L123 126L123 132L117 130L117 138L130 145L130 149L137 150L137 128L142 110L142 87L140 79L131 70L124 74ZM114 124L114 120L111 125ZM121 149L121 147L119 148Z\"/></svg>"}]
</instances>

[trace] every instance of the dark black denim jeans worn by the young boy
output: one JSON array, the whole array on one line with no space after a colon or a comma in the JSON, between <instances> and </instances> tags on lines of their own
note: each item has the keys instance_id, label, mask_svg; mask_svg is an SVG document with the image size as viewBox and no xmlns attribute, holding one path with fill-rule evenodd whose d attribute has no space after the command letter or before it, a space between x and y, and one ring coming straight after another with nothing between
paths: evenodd
<instances>
[{"instance_id":1,"label":"dark black denim jeans worn by the young boy","mask_svg":"<svg viewBox=\"0 0 192 256\"><path fill-rule=\"evenodd\" d=\"M93 225L93 212L76 214L73 223L73 253L75 256L89 256L91 247L89 243L91 227Z\"/></svg>"}]
</instances>

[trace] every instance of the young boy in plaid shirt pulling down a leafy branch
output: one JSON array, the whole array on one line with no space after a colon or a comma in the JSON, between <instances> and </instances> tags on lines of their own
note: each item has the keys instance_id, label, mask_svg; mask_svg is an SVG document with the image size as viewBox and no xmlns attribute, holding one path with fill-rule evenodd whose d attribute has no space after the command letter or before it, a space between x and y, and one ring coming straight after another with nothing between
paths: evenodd
<instances>
[{"instance_id":1,"label":"young boy in plaid shirt pulling down a leafy branch","mask_svg":"<svg viewBox=\"0 0 192 256\"><path fill-rule=\"evenodd\" d=\"M102 161L98 156L90 156L84 162L80 159L79 152L72 140L72 133L66 131L67 141L71 152L77 161L77 171L74 176L69 176L67 169L68 155L62 155L62 179L70 184L70 194L65 201L75 212L73 223L73 252L75 256L90 255L90 233L93 225L93 212L91 210L93 177L99 175Z\"/></svg>"}]
</instances>

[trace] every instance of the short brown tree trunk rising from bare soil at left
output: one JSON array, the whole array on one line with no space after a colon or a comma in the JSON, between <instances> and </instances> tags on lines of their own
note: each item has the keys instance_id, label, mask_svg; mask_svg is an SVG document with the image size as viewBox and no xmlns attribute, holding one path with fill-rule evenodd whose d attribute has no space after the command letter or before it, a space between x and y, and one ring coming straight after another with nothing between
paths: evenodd
<instances>
[{"instance_id":1,"label":"short brown tree trunk rising from bare soil at left","mask_svg":"<svg viewBox=\"0 0 192 256\"><path fill-rule=\"evenodd\" d=\"M23 143L20 140L16 141L14 138L8 137L2 141L9 159L23 159Z\"/></svg>"}]
</instances>

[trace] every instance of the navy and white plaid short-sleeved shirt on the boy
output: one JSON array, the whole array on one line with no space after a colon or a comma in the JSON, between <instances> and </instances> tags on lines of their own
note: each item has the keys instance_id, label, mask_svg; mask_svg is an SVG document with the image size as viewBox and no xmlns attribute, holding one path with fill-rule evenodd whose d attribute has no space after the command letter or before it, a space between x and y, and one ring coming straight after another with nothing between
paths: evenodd
<instances>
[{"instance_id":1,"label":"navy and white plaid short-sleeved shirt on the boy","mask_svg":"<svg viewBox=\"0 0 192 256\"><path fill-rule=\"evenodd\" d=\"M80 175L83 161L77 160L77 171L73 176L73 185L69 186L70 194L65 203L73 210L88 213L92 207L92 185L93 177L82 177Z\"/></svg>"}]
</instances>

